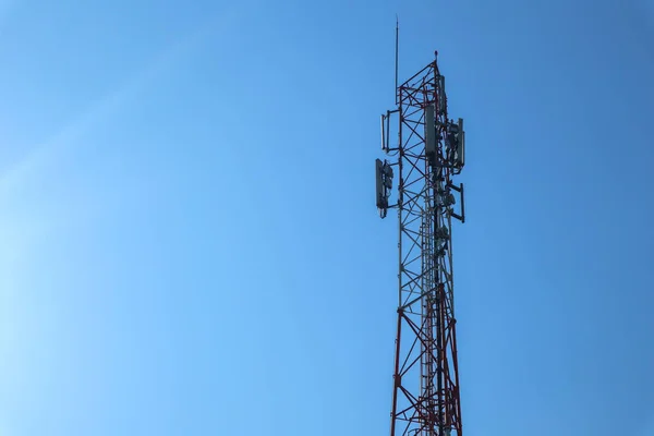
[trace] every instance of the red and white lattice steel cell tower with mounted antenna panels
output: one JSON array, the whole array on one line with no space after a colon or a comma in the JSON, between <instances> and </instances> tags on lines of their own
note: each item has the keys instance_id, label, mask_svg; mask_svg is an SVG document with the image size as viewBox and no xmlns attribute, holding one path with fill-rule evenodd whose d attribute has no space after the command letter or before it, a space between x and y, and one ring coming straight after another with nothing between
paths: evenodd
<instances>
[{"instance_id":1,"label":"red and white lattice steel cell tower with mounted antenna panels","mask_svg":"<svg viewBox=\"0 0 654 436\"><path fill-rule=\"evenodd\" d=\"M464 165L463 120L448 118L437 59L399 86L396 78L396 93L397 108L382 116L391 161L376 160L377 208L382 218L397 209L400 234L390 435L461 436L451 229L452 218L464 221L463 185L453 184Z\"/></svg>"}]
</instances>

